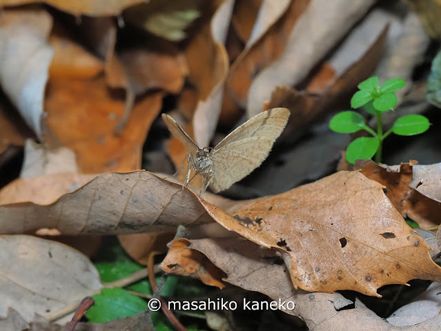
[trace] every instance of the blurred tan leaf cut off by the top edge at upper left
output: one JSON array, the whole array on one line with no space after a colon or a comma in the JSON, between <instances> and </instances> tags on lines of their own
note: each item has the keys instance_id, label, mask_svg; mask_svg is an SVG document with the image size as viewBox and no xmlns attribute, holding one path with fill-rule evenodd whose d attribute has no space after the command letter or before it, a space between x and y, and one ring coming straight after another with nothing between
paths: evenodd
<instances>
[{"instance_id":1,"label":"blurred tan leaf cut off by the top edge at upper left","mask_svg":"<svg viewBox=\"0 0 441 331\"><path fill-rule=\"evenodd\" d=\"M63 0L2 0L1 6L21 6L27 3L43 2L50 6L69 12L70 14L89 16L113 16L121 14L124 8L142 3L144 0L84 0L84 1L63 1Z\"/></svg>"}]
</instances>

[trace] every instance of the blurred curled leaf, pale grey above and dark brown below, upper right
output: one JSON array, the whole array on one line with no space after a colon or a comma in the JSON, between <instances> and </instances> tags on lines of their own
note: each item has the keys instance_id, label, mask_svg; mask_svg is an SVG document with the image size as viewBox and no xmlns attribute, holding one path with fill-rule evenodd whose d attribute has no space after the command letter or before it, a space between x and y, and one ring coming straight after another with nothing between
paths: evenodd
<instances>
[{"instance_id":1,"label":"blurred curled leaf, pale grey above and dark brown below, upper right","mask_svg":"<svg viewBox=\"0 0 441 331\"><path fill-rule=\"evenodd\" d=\"M268 108L286 107L292 114L282 139L301 137L313 121L326 116L348 91L369 77L384 50L388 22L384 11L373 10L317 69L304 91L275 88Z\"/></svg>"}]
</instances>

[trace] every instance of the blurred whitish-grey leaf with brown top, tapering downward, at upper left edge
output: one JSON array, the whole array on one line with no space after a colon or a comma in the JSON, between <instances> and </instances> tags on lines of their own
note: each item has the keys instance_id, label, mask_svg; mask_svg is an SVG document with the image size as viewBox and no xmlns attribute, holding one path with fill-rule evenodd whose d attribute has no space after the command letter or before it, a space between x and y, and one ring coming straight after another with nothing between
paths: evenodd
<instances>
[{"instance_id":1,"label":"blurred whitish-grey leaf with brown top, tapering downward, at upper left edge","mask_svg":"<svg viewBox=\"0 0 441 331\"><path fill-rule=\"evenodd\" d=\"M51 28L52 17L41 9L3 10L0 17L1 87L39 139Z\"/></svg>"}]
</instances>

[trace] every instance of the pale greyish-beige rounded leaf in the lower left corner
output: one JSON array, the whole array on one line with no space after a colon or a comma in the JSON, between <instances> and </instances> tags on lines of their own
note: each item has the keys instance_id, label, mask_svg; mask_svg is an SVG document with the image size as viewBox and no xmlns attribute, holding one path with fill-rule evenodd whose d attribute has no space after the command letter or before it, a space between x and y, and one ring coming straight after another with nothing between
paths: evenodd
<instances>
[{"instance_id":1,"label":"pale greyish-beige rounded leaf in the lower left corner","mask_svg":"<svg viewBox=\"0 0 441 331\"><path fill-rule=\"evenodd\" d=\"M0 248L1 317L7 316L10 307L30 322L35 313L46 317L102 288L89 259L61 243L31 236L1 236Z\"/></svg>"}]
</instances>

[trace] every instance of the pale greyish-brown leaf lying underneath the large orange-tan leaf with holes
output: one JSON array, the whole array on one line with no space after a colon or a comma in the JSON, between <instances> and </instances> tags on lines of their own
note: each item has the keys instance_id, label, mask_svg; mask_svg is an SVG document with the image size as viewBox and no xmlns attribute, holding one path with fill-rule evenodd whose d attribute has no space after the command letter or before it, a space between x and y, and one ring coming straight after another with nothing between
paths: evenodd
<instances>
[{"instance_id":1,"label":"pale greyish-brown leaf lying underneath the large orange-tan leaf with holes","mask_svg":"<svg viewBox=\"0 0 441 331\"><path fill-rule=\"evenodd\" d=\"M348 305L353 304L353 301L339 293L294 290L288 270L280 261L280 255L273 249L245 239L190 240L190 248L204 253L211 262L226 272L226 282L246 290L262 292L276 302L279 299L282 302L293 301L294 310L282 311L302 318L309 330L341 331L342 325L349 324L351 330L435 331L441 325L441 315L438 315L409 328L394 328L358 299L355 299L354 307L350 308Z\"/></svg>"}]
</instances>

